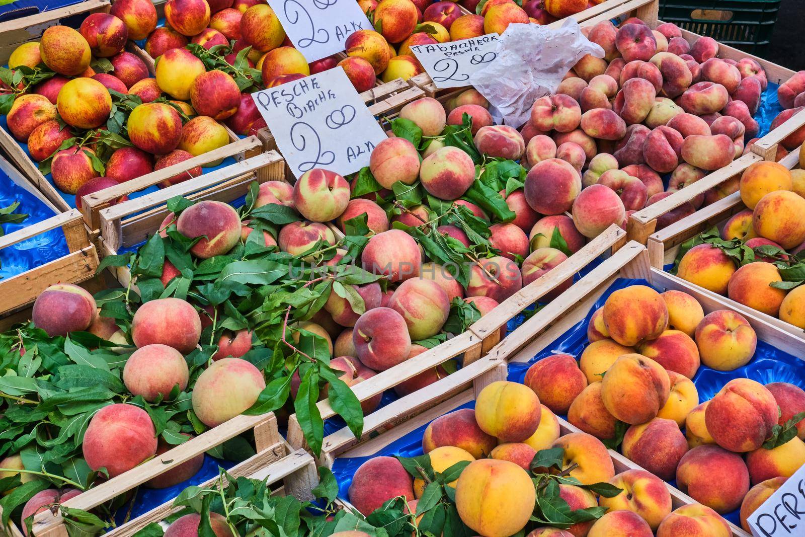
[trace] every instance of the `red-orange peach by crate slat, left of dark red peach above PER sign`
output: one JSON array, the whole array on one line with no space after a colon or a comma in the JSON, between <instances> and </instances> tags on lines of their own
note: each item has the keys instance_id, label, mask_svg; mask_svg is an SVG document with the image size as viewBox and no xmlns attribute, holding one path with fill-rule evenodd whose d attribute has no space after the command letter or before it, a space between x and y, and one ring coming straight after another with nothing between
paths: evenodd
<instances>
[{"instance_id":1,"label":"red-orange peach by crate slat, left of dark red peach above PER sign","mask_svg":"<svg viewBox=\"0 0 805 537\"><path fill-rule=\"evenodd\" d=\"M632 425L623 437L621 449L630 461L661 479L671 480L687 452L687 440L674 420L654 418Z\"/></svg>"}]
</instances>

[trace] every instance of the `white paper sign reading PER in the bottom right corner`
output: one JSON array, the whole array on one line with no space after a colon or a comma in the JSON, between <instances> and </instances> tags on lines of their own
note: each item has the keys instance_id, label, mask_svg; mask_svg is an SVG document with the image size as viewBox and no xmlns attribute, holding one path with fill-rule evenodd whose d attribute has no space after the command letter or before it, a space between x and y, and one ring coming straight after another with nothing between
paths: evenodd
<instances>
[{"instance_id":1,"label":"white paper sign reading PER in the bottom right corner","mask_svg":"<svg viewBox=\"0 0 805 537\"><path fill-rule=\"evenodd\" d=\"M747 522L755 537L805 535L805 466L786 479Z\"/></svg>"}]
</instances>

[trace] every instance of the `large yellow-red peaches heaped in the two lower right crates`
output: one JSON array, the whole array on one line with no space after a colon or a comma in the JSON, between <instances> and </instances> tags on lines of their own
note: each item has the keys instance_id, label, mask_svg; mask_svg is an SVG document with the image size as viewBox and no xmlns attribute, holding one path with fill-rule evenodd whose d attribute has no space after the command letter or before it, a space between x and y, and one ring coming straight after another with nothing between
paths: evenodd
<instances>
[{"instance_id":1,"label":"large yellow-red peaches heaped in the two lower right crates","mask_svg":"<svg viewBox=\"0 0 805 537\"><path fill-rule=\"evenodd\" d=\"M805 420L797 423L798 436L763 445L774 426L805 411L805 391L737 378L699 404L691 377L700 360L733 369L740 361L733 353L751 357L756 336L737 313L705 316L681 291L660 295L641 285L614 291L593 314L588 337L580 361L544 357L530 366L524 384L493 382L478 394L474 411L453 411L427 426L423 452L436 472L472 461L451 484L464 523L479 535L513 535L526 527L534 510L531 461L539 450L559 447L570 477L583 485L609 481L621 493L597 497L559 485L571 510L605 506L607 513L565 531L533 528L528 535L728 537L732 531L720 515L739 508L749 531L749 515L805 463ZM557 415L583 432L560 435ZM619 434L621 451L642 469L616 475L605 442L613 445ZM663 481L674 479L699 504L672 511ZM423 485L396 459L379 456L357 470L349 501L368 514L397 496L417 501Z\"/></svg>"}]
</instances>

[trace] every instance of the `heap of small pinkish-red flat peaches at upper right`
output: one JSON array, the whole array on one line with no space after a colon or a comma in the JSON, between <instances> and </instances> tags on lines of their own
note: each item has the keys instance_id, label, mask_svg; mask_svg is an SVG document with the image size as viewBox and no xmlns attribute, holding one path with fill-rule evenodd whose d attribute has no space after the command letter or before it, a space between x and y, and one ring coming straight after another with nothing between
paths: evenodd
<instances>
[{"instance_id":1,"label":"heap of small pinkish-red flat peaches at upper right","mask_svg":"<svg viewBox=\"0 0 805 537\"><path fill-rule=\"evenodd\" d=\"M535 101L521 129L525 151L518 138L500 155L530 168L530 207L561 218L568 245L622 225L631 213L747 151L745 139L758 134L752 116L767 84L755 60L720 59L715 40L688 43L672 23L652 30L639 19L621 27L605 21L584 32L605 57L584 56L554 95ZM781 86L781 95L796 91L789 87L800 79ZM466 111L473 126L485 125L485 111ZM730 181L682 204L659 217L658 228L737 187ZM565 213L572 213L575 226L558 216Z\"/></svg>"}]
</instances>

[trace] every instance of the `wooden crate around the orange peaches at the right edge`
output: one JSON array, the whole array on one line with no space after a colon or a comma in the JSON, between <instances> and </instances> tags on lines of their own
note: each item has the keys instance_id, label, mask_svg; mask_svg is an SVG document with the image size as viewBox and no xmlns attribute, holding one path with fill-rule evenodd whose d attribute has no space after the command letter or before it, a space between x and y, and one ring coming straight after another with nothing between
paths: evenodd
<instances>
[{"instance_id":1,"label":"wooden crate around the orange peaches at the right edge","mask_svg":"<svg viewBox=\"0 0 805 537\"><path fill-rule=\"evenodd\" d=\"M748 155L747 155L748 156ZM780 163L788 169L799 168L799 151L792 151L790 154L783 157ZM706 179L706 178L705 178ZM691 186L695 186L691 185ZM685 188L687 190L687 188ZM671 196L669 196L670 198ZM658 271L663 270L663 266L668 263L674 262L676 255L679 253L679 246L687 241L689 238L696 237L699 233L712 228L713 225L723 225L729 217L735 213L739 213L746 209L746 205L741 200L741 192L734 192L733 194L716 201L716 203L704 207L691 214L691 216L683 218L675 224L669 225L665 229L661 229L648 238L648 251L650 255L651 265ZM758 310L749 308L743 304L728 299L725 296L717 295L712 291L704 289L704 287L696 286L689 283L676 275L663 273L667 278L674 279L675 281L683 282L688 286L695 287L703 294L717 298L729 304L732 308L741 315L753 319L762 320L765 324L770 324L783 330L787 333L795 334L800 338L803 337L803 329L793 324L786 323L777 317L767 315L766 313L758 312ZM798 355L802 355L800 350Z\"/></svg>"}]
</instances>

